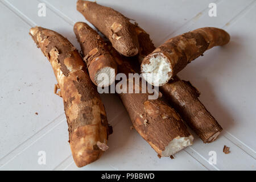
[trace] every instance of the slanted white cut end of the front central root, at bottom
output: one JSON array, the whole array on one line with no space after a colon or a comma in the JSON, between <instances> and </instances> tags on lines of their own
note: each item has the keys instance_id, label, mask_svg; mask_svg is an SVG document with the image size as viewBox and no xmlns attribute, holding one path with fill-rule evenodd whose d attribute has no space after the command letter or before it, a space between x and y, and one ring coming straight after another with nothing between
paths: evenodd
<instances>
[{"instance_id":1,"label":"slanted white cut end of the front central root, at bottom","mask_svg":"<svg viewBox=\"0 0 256 182\"><path fill-rule=\"evenodd\" d=\"M162 157L174 155L183 148L191 146L193 144L193 140L194 138L192 135L189 137L176 137L168 144L168 146L166 146L165 150L162 152Z\"/></svg>"}]
</instances>

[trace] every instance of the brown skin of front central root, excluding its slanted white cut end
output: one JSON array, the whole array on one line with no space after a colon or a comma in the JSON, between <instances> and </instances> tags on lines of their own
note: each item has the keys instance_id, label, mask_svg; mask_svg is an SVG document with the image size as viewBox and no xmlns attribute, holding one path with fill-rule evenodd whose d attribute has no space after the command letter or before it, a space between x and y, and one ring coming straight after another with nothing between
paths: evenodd
<instances>
[{"instance_id":1,"label":"brown skin of front central root, excluding its slanted white cut end","mask_svg":"<svg viewBox=\"0 0 256 182\"><path fill-rule=\"evenodd\" d=\"M113 48L110 49L110 53L117 61L118 73L125 73L127 78L129 73L135 73L125 57L119 55ZM141 84L135 85L134 82L133 88L135 86L141 90ZM162 152L173 139L189 137L191 134L174 109L159 98L148 100L148 95L148 93L121 93L119 97L129 113L135 130L162 156Z\"/></svg>"}]
</instances>

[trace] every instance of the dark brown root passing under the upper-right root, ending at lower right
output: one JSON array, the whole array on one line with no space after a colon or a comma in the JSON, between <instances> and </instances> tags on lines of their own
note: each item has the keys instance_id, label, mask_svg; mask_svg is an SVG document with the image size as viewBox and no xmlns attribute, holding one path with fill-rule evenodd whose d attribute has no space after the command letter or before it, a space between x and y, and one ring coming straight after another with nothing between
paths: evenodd
<instances>
[{"instance_id":1,"label":"dark brown root passing under the upper-right root, ending at lower right","mask_svg":"<svg viewBox=\"0 0 256 182\"><path fill-rule=\"evenodd\" d=\"M147 32L138 26L136 30L141 46L138 56L141 63L146 55L154 51L155 46ZM167 84L160 86L159 89L204 143L210 143L217 139L222 127L200 102L198 98L200 93L190 82L180 80L179 77L175 76ZM216 137L212 138L213 135Z\"/></svg>"}]
</instances>

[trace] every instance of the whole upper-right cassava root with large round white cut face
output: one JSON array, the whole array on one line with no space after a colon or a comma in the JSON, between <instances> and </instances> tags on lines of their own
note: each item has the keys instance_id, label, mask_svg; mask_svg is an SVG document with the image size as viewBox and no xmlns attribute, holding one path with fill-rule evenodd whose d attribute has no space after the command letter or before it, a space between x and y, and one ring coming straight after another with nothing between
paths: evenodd
<instances>
[{"instance_id":1,"label":"whole upper-right cassava root with large round white cut face","mask_svg":"<svg viewBox=\"0 0 256 182\"><path fill-rule=\"evenodd\" d=\"M223 46L229 40L229 34L220 28L204 27L187 32L167 40L146 56L141 72L152 85L164 85L207 49Z\"/></svg>"}]
</instances>

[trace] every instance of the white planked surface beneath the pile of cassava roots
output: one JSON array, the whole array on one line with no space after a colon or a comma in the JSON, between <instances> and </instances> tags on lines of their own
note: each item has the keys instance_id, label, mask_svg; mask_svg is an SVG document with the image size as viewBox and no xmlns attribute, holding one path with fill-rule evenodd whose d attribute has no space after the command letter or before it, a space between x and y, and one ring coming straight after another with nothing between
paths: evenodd
<instances>
[{"instance_id":1,"label":"white planked surface beneath the pile of cassava roots","mask_svg":"<svg viewBox=\"0 0 256 182\"><path fill-rule=\"evenodd\" d=\"M38 3L47 5L38 16ZM76 1L0 1L0 169L35 170L255 170L256 150L256 3L247 1L97 1L111 6L150 33L156 46L167 38L199 27L224 28L231 35L225 47L216 47L193 61L179 76L201 92L200 100L224 127L220 138L159 159L135 130L114 94L102 95L114 133L109 150L86 167L77 168L68 144L63 101L53 94L56 83L51 65L28 35L38 25L60 32L77 48L73 23L86 20L76 11ZM208 16L210 2L217 16ZM80 49L80 48L79 48ZM38 112L38 115L35 114ZM224 146L231 153L222 152ZM38 152L46 151L46 165ZM216 151L217 164L208 163Z\"/></svg>"}]
</instances>

